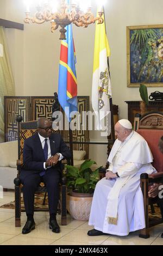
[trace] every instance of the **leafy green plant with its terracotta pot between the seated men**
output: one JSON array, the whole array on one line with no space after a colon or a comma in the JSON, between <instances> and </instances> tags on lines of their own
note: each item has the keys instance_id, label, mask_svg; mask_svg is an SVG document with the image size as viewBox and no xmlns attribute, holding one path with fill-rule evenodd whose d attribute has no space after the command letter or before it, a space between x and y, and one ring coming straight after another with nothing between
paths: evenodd
<instances>
[{"instance_id":1,"label":"leafy green plant with its terracotta pot between the seated men","mask_svg":"<svg viewBox=\"0 0 163 256\"><path fill-rule=\"evenodd\" d=\"M67 210L76 220L89 220L93 192L99 180L99 168L92 170L95 161L85 160L80 167L66 165Z\"/></svg>"}]
</instances>

